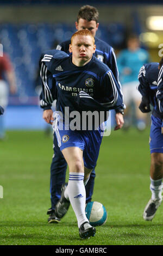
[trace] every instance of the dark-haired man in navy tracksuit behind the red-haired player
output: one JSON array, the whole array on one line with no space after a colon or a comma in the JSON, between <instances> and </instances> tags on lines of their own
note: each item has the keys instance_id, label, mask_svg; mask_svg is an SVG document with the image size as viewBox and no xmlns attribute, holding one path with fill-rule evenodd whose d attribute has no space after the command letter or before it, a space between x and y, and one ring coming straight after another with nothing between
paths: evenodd
<instances>
[{"instance_id":1,"label":"dark-haired man in navy tracksuit behind the red-haired player","mask_svg":"<svg viewBox=\"0 0 163 256\"><path fill-rule=\"evenodd\" d=\"M117 81L118 86L121 89L121 84L118 81L118 70L116 64L116 57L113 48L108 45L106 42L98 39L96 37L96 32L99 27L98 23L98 10L95 7L90 5L84 5L79 9L79 13L77 16L77 21L75 22L76 29L88 29L93 37L95 37L95 45L96 50L93 53L93 56L96 56L99 60L109 66L114 77ZM62 42L57 46L57 50L61 50L66 52L68 55L72 53L69 51L69 45L71 44L71 40L67 40ZM53 99L55 99L55 95L53 95ZM47 104L42 100L41 97L41 107L43 108L43 118L47 123L51 123L53 111L51 109L51 104ZM60 221L59 218L55 216L55 205L57 204L60 194L61 194L61 185L65 182L66 168L67 163L60 153L60 149L58 147L57 139L54 134L53 136L53 150L54 155L51 163L51 182L50 182L50 193L51 193L51 208L48 209L47 214L49 215L48 223L58 223ZM95 169L92 170L90 179L86 185L86 203L90 202L93 194L93 187L95 184Z\"/></svg>"}]
</instances>

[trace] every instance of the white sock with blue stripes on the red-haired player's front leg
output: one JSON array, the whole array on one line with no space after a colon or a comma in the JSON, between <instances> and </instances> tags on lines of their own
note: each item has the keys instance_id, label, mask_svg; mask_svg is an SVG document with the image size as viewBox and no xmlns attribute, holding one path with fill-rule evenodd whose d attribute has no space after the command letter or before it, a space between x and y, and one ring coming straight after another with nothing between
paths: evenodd
<instances>
[{"instance_id":1,"label":"white sock with blue stripes on the red-haired player's front leg","mask_svg":"<svg viewBox=\"0 0 163 256\"><path fill-rule=\"evenodd\" d=\"M84 173L70 173L65 190L65 198L70 200L77 217L78 227L86 221L89 222L85 215L86 193L83 180Z\"/></svg>"}]
</instances>

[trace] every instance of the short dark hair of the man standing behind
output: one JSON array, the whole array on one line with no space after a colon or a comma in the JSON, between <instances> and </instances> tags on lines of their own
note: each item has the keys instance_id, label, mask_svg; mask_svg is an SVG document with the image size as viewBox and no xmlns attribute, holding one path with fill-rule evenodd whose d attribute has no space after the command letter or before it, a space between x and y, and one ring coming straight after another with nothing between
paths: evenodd
<instances>
[{"instance_id":1,"label":"short dark hair of the man standing behind","mask_svg":"<svg viewBox=\"0 0 163 256\"><path fill-rule=\"evenodd\" d=\"M79 22L79 19L85 19L87 21L96 21L96 23L98 22L98 10L91 6L91 5L83 5L80 9L79 9L79 13L77 16L77 22Z\"/></svg>"}]
</instances>

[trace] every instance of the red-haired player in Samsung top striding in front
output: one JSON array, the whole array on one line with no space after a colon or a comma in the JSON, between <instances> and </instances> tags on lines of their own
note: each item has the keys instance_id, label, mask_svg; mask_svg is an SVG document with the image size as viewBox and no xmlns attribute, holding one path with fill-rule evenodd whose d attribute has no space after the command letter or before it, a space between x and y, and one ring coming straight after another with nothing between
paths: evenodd
<instances>
[{"instance_id":1,"label":"red-haired player in Samsung top striding in front","mask_svg":"<svg viewBox=\"0 0 163 256\"><path fill-rule=\"evenodd\" d=\"M68 185L64 188L56 205L55 215L63 217L71 203L76 214L80 237L94 236L96 229L89 224L85 215L85 186L91 170L95 168L99 148L102 141L101 124L92 130L72 130L71 121L66 124L65 108L70 109L68 120L72 120L72 112L83 114L85 109L116 109L117 125L123 126L122 95L111 70L93 56L96 50L95 39L90 31L83 29L72 35L70 52L52 50L44 53L40 59L43 100L53 101L52 91L57 87L57 110L54 115L53 129L58 146L69 167ZM51 75L55 77L56 86L51 84ZM87 90L86 90L87 89ZM91 90L90 90L91 89ZM86 90L87 93L84 93ZM78 93L74 93L78 92ZM90 96L90 92L91 95ZM79 105L84 98L85 104ZM62 113L62 114L61 114ZM83 116L80 119L83 123ZM77 124L79 127L83 127ZM84 124L85 125L85 124ZM87 127L87 126L86 126Z\"/></svg>"}]
</instances>

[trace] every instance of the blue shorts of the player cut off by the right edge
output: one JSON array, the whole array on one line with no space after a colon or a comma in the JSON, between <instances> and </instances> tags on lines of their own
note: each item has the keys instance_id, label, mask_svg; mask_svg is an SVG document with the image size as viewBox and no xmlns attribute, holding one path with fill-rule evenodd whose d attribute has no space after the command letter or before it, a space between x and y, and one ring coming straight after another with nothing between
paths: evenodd
<instances>
[{"instance_id":1,"label":"blue shorts of the player cut off by the right edge","mask_svg":"<svg viewBox=\"0 0 163 256\"><path fill-rule=\"evenodd\" d=\"M149 146L152 153L163 153L163 134L161 133L162 120L151 115L151 131Z\"/></svg>"}]
</instances>

